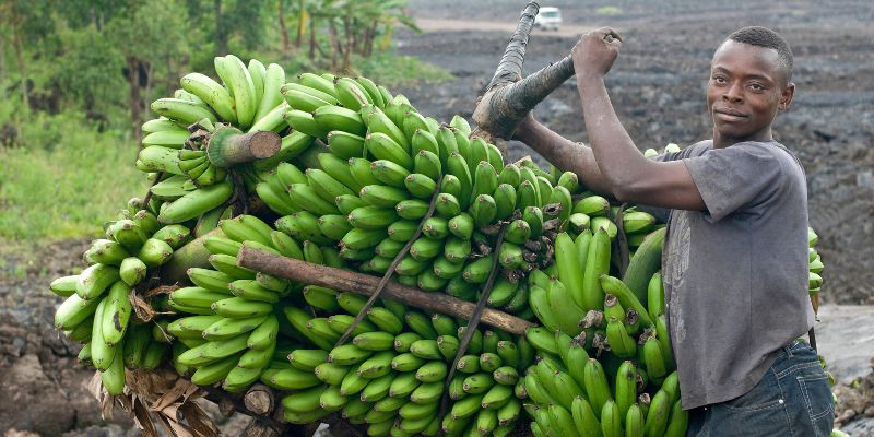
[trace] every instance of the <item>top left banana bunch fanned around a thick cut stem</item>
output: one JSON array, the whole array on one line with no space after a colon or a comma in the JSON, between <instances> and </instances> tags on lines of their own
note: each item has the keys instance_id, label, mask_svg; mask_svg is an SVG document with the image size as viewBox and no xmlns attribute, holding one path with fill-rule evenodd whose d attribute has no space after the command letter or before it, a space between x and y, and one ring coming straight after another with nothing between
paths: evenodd
<instances>
[{"instance_id":1,"label":"top left banana bunch fanned around a thick cut stem","mask_svg":"<svg viewBox=\"0 0 874 437\"><path fill-rule=\"evenodd\" d=\"M201 73L185 75L174 98L160 98L152 104L160 118L142 127L145 137L137 167L150 173L150 178L162 175L162 180L152 187L162 223L202 217L234 193L227 163L210 153L216 126L239 133L288 130L282 117L287 109L280 93L285 84L282 67L264 67L257 59L246 66L233 55L216 57L214 63L223 84ZM311 142L310 137L291 133L283 138L280 153L259 163L259 168L291 160ZM253 164L237 167L250 191L255 191Z\"/></svg>"}]
</instances>

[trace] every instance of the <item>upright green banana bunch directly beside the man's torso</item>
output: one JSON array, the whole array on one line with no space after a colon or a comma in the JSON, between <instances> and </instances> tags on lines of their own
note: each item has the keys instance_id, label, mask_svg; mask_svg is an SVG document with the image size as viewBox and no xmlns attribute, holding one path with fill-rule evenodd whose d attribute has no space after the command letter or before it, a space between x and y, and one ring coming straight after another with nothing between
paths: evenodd
<instances>
[{"instance_id":1,"label":"upright green banana bunch directly beside the man's torso","mask_svg":"<svg viewBox=\"0 0 874 437\"><path fill-rule=\"evenodd\" d=\"M617 216L606 199L584 196L554 238L555 263L528 275L542 324L525 333L540 358L523 378L536 436L685 435L658 273L664 229L648 213L622 212L631 253L619 280Z\"/></svg>"}]
</instances>

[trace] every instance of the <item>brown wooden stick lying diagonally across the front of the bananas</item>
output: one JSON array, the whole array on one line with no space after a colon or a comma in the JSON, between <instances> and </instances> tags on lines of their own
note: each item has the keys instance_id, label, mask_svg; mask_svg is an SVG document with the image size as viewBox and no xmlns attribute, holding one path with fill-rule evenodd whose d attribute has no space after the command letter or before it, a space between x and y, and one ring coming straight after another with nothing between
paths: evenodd
<instances>
[{"instance_id":1,"label":"brown wooden stick lying diagonally across the front of the bananas","mask_svg":"<svg viewBox=\"0 0 874 437\"><path fill-rule=\"evenodd\" d=\"M365 296L371 295L379 284L379 277L268 253L246 247L246 245L243 246L243 249L237 255L237 264L286 280ZM382 295L416 308L462 317L468 320L476 309L476 305L473 303L458 299L445 293L423 292L395 281L389 281ZM491 308L483 310L481 320L483 323L520 335L524 334L527 328L534 326L527 320Z\"/></svg>"}]
</instances>

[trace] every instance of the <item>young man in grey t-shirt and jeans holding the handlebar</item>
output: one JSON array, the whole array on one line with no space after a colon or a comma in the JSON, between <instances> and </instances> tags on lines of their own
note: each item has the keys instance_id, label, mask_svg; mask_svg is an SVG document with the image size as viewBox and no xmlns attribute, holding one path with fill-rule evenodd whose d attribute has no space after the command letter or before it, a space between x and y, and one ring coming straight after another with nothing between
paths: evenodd
<instances>
[{"instance_id":1,"label":"young man in grey t-shirt and jeans holding the handlebar","mask_svg":"<svg viewBox=\"0 0 874 437\"><path fill-rule=\"evenodd\" d=\"M591 190L670 212L663 277L689 436L828 436L826 375L795 341L813 326L805 177L771 137L795 90L789 46L764 27L730 35L710 66L712 140L654 160L604 85L621 46L605 27L572 50L591 147L530 116L516 138Z\"/></svg>"}]
</instances>

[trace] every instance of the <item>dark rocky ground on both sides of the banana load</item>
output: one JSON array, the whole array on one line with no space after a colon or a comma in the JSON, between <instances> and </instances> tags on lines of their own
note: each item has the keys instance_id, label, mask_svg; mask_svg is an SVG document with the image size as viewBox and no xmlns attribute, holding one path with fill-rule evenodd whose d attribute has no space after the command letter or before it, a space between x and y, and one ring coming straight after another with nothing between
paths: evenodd
<instances>
[{"instance_id":1,"label":"dark rocky ground on both sides of the banana load","mask_svg":"<svg viewBox=\"0 0 874 437\"><path fill-rule=\"evenodd\" d=\"M546 3L544 3L546 5ZM742 0L688 2L614 1L622 12L599 14L602 3L557 0L559 32L535 31L525 73L567 55L581 29L617 28L626 42L607 79L614 106L642 147L681 145L705 139L704 84L714 47L733 29L773 27L795 54L795 101L775 128L807 173L811 224L819 233L826 263L817 326L820 352L841 385L837 409L852 435L874 435L874 5L867 0L798 0L765 7ZM403 92L423 114L448 120L470 118L474 102L494 73L522 2L412 0L422 34L402 32L398 51L450 71L439 85ZM755 11L755 12L749 12ZM574 81L535 110L535 116L575 141L588 141ZM511 157L531 152L511 142ZM539 157L538 157L539 158ZM51 314L59 302L47 291L56 276L81 268L87 241L64 241L36 257L3 253L0 263L0 433L4 436L132 436L132 424L101 418L85 386L92 371L79 368L76 346L59 339ZM3 244L0 241L0 247ZM27 261L38 259L40 262ZM858 305L863 306L858 306ZM840 305L840 306L838 306ZM226 435L246 420L221 418Z\"/></svg>"}]
</instances>

